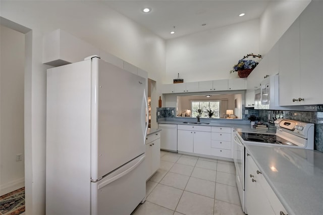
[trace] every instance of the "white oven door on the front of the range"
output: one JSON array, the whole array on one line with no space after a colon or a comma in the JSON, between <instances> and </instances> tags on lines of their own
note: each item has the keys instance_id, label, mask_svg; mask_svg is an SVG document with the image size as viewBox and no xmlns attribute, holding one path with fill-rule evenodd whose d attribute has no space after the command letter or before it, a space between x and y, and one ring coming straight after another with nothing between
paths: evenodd
<instances>
[{"instance_id":1,"label":"white oven door on the front of the range","mask_svg":"<svg viewBox=\"0 0 323 215\"><path fill-rule=\"evenodd\" d=\"M240 179L242 189L244 190L244 145L238 135L239 134L235 132L233 141L233 160L238 173L237 177Z\"/></svg>"}]
</instances>

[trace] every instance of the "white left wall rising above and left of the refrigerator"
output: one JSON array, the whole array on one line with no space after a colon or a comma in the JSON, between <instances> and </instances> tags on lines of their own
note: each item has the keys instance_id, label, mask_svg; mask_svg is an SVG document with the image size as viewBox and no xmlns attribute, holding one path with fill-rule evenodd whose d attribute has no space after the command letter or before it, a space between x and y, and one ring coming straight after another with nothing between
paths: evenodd
<instances>
[{"instance_id":1,"label":"white left wall rising above and left of the refrigerator","mask_svg":"<svg viewBox=\"0 0 323 215\"><path fill-rule=\"evenodd\" d=\"M148 72L157 81L166 68L166 43L137 23L94 1L1 1L1 16L26 33L26 214L45 214L46 69L42 36L58 28ZM157 100L157 99L156 99ZM152 105L157 106L157 103Z\"/></svg>"}]
</instances>

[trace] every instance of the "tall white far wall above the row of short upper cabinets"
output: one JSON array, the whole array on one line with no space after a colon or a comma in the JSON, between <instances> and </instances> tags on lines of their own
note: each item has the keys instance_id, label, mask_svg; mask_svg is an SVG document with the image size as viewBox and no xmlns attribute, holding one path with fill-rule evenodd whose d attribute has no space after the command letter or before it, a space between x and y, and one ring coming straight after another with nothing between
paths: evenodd
<instances>
[{"instance_id":1,"label":"tall white far wall above the row of short upper cabinets","mask_svg":"<svg viewBox=\"0 0 323 215\"><path fill-rule=\"evenodd\" d=\"M227 79L247 53L259 52L259 20L216 28L167 40L164 84Z\"/></svg>"}]
</instances>

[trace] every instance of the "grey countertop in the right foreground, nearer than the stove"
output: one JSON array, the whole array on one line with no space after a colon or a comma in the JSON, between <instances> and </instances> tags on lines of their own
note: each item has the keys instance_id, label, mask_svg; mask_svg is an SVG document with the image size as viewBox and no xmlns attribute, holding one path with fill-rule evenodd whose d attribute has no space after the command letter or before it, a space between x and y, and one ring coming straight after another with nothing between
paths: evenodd
<instances>
[{"instance_id":1,"label":"grey countertop in the right foreground, nearer than the stove","mask_svg":"<svg viewBox=\"0 0 323 215\"><path fill-rule=\"evenodd\" d=\"M289 215L323 214L323 153L245 144ZM273 172L271 167L278 172Z\"/></svg>"}]
</instances>

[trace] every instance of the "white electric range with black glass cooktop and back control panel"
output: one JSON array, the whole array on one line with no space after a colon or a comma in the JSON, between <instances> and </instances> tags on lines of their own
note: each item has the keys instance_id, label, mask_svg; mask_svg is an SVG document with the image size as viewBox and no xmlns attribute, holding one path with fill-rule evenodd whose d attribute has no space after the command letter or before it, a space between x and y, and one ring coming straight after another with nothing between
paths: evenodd
<instances>
[{"instance_id":1,"label":"white electric range with black glass cooktop and back control panel","mask_svg":"<svg viewBox=\"0 0 323 215\"><path fill-rule=\"evenodd\" d=\"M276 134L236 132L234 135L233 160L236 167L236 183L242 210L245 207L245 147L244 144L262 144L294 148L314 148L314 124L296 120L278 119L275 121Z\"/></svg>"}]
</instances>

